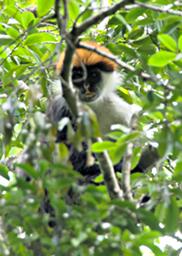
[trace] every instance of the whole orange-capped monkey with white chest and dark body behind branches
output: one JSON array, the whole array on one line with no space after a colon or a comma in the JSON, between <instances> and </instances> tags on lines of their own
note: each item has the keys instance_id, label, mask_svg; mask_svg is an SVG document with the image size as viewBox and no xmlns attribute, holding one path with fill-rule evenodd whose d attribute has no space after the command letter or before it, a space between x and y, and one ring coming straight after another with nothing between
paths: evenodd
<instances>
[{"instance_id":1,"label":"whole orange-capped monkey with white chest and dark body behind branches","mask_svg":"<svg viewBox=\"0 0 182 256\"><path fill-rule=\"evenodd\" d=\"M82 42L82 44L112 55L106 47L96 42L86 41ZM57 73L60 76L64 56L65 53L63 52L56 65ZM72 59L71 80L73 88L78 93L79 100L88 105L96 114L103 135L106 135L111 130L113 124L129 127L132 116L140 111L140 107L127 103L116 93L116 87L122 82L121 75L118 72L118 65L113 60L103 57L97 52L85 48L76 48ZM53 101L48 110L48 117L54 122L58 122L63 117L69 117L72 126L76 129L75 119L62 96L57 96L55 101ZM66 127L58 132L57 142L60 141L66 142ZM71 152L70 161L75 170L83 176L89 177L89 181L92 181L94 177L100 174L100 167L96 162L91 166L86 164L86 143L83 143L83 150L81 152L76 150L73 145L69 145L69 149ZM154 154L156 158L156 150L153 153L153 148L149 149L149 155L151 156L151 154ZM94 154L93 156L96 158ZM141 159L142 161L139 162L133 172L143 172L144 167L148 168L153 164L152 158L147 164L144 163L145 157L141 157ZM121 171L122 159L114 168L115 171Z\"/></svg>"}]
</instances>

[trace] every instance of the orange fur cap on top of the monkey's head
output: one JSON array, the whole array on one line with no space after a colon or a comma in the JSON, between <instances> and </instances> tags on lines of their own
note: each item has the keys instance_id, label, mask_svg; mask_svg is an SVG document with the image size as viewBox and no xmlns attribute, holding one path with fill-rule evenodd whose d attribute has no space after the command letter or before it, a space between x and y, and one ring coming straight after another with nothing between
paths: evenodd
<instances>
[{"instance_id":1,"label":"orange fur cap on top of the monkey's head","mask_svg":"<svg viewBox=\"0 0 182 256\"><path fill-rule=\"evenodd\" d=\"M86 46L92 46L101 52L111 54L111 52L106 47L101 46L96 42L82 42L82 44ZM56 70L58 74L60 74L61 72L64 56L65 53L63 52L60 55L59 61L56 65ZM74 67L80 67L82 64L88 66L96 65L98 63L104 63L109 71L114 71L117 69L117 64L114 61L87 49L77 48L72 59L72 64Z\"/></svg>"}]
</instances>

